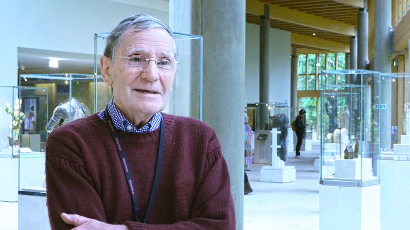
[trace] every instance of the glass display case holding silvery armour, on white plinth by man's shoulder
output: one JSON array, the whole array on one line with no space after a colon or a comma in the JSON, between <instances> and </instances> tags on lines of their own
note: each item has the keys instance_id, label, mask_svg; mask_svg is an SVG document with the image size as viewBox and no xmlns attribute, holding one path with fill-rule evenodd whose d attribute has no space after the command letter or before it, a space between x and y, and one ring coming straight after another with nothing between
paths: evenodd
<instances>
[{"instance_id":1,"label":"glass display case holding silvery armour, on white plinth by man's shoulder","mask_svg":"<svg viewBox=\"0 0 410 230\"><path fill-rule=\"evenodd\" d=\"M101 76L97 80L102 81ZM19 194L45 195L48 134L58 126L96 112L94 81L94 75L74 73L19 76L16 88L26 114L19 131ZM112 94L98 96L109 101ZM21 153L27 149L32 152Z\"/></svg>"}]
</instances>

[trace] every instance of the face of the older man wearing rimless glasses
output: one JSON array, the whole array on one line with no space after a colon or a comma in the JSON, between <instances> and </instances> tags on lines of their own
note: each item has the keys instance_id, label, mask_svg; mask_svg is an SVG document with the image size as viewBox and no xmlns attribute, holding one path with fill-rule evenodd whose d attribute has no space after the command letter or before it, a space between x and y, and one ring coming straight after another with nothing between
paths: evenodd
<instances>
[{"instance_id":1,"label":"face of the older man wearing rimless glasses","mask_svg":"<svg viewBox=\"0 0 410 230\"><path fill-rule=\"evenodd\" d=\"M144 55L149 58L173 58L173 54L171 36L164 29L155 28L137 33L126 31L115 52L113 65L109 58L103 56L109 61L106 71L101 67L103 77L107 85L112 85L114 102L121 112L152 116L163 110L171 93L176 66L164 71L157 68L155 61L150 61L145 67L127 67L127 59L117 57ZM101 60L101 66L103 62Z\"/></svg>"}]
</instances>

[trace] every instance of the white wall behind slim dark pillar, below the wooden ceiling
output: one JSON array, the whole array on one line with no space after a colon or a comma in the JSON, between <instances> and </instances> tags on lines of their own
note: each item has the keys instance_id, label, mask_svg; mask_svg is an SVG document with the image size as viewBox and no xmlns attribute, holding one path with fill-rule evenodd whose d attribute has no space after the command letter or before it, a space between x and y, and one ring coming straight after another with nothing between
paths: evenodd
<instances>
[{"instance_id":1,"label":"white wall behind slim dark pillar, below the wooden ceiling","mask_svg":"<svg viewBox=\"0 0 410 230\"><path fill-rule=\"evenodd\" d=\"M291 32L270 28L269 101L291 102ZM259 26L246 24L245 103L259 102ZM246 105L244 105L246 106Z\"/></svg>"}]
</instances>

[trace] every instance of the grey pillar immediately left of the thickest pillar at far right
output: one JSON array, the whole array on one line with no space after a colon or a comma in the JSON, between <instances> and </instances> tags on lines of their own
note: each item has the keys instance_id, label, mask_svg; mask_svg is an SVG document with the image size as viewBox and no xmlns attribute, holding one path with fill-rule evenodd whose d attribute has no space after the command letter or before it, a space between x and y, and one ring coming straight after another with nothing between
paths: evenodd
<instances>
[{"instance_id":1,"label":"grey pillar immediately left of the thickest pillar at far right","mask_svg":"<svg viewBox=\"0 0 410 230\"><path fill-rule=\"evenodd\" d=\"M359 11L357 15L357 68L366 70L368 63L368 13Z\"/></svg>"}]
</instances>

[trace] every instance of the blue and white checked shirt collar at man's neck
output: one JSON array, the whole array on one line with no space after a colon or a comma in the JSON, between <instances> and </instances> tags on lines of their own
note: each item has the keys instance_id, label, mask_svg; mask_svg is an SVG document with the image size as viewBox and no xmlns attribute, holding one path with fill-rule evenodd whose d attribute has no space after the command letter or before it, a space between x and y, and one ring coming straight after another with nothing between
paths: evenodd
<instances>
[{"instance_id":1,"label":"blue and white checked shirt collar at man's neck","mask_svg":"<svg viewBox=\"0 0 410 230\"><path fill-rule=\"evenodd\" d=\"M110 103L108 103L108 113L110 113L110 116L112 118L115 128L124 130L127 132L154 131L161 125L161 120L162 120L162 114L160 112L157 112L154 114L154 116L151 118L151 120L146 125L142 126L140 129L137 129L119 111L118 107L114 103L114 97L112 97ZM104 121L106 120L105 109L98 113L98 117L100 117Z\"/></svg>"}]
</instances>

